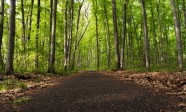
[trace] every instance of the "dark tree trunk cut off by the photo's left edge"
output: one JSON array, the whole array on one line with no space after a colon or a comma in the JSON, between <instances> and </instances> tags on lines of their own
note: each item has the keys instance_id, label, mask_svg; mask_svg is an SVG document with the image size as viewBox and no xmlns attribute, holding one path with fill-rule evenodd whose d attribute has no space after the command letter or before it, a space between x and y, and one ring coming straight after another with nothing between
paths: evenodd
<instances>
[{"instance_id":1,"label":"dark tree trunk cut off by the photo's left edge","mask_svg":"<svg viewBox=\"0 0 186 112\"><path fill-rule=\"evenodd\" d=\"M3 41L3 31L4 31L4 0L1 0L0 8L0 66L4 68L3 57L2 57L2 41Z\"/></svg>"}]
</instances>

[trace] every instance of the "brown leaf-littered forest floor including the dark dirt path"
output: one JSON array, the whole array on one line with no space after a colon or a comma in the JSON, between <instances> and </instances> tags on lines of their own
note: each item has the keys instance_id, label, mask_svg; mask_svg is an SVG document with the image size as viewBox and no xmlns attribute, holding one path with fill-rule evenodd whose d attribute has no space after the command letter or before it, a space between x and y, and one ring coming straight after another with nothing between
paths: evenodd
<instances>
[{"instance_id":1,"label":"brown leaf-littered forest floor including the dark dirt path","mask_svg":"<svg viewBox=\"0 0 186 112\"><path fill-rule=\"evenodd\" d=\"M186 112L184 72L89 71L43 77L26 89L0 92L0 111Z\"/></svg>"}]
</instances>

